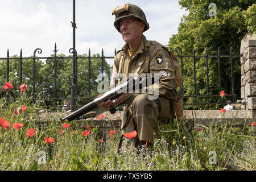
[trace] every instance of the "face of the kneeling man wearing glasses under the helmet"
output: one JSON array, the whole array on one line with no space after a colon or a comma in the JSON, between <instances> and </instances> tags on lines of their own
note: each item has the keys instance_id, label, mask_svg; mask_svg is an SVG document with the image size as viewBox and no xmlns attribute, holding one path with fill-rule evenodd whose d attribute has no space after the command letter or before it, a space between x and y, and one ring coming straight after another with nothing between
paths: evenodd
<instances>
[{"instance_id":1,"label":"face of the kneeling man wearing glasses under the helmet","mask_svg":"<svg viewBox=\"0 0 256 182\"><path fill-rule=\"evenodd\" d=\"M128 44L133 44L141 38L144 30L144 23L134 18L125 18L119 22L123 40Z\"/></svg>"}]
</instances>

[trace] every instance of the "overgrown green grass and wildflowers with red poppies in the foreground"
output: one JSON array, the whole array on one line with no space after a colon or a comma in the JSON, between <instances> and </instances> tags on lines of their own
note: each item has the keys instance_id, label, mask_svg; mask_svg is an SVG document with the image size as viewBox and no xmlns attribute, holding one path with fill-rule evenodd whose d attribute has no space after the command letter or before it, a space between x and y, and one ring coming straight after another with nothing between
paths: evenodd
<instances>
[{"instance_id":1,"label":"overgrown green grass and wildflowers with red poppies in the foreground","mask_svg":"<svg viewBox=\"0 0 256 182\"><path fill-rule=\"evenodd\" d=\"M25 105L26 111L14 114L14 109ZM35 104L28 102L24 93L18 101L7 103L2 99L0 109L0 118L10 122L10 129L0 126L0 170L256 169L255 131L250 126L242 129L226 125L188 128L185 121L174 120L174 123L159 127L154 146L118 153L119 130L114 129L113 137L108 132L102 136L97 127L89 126L90 135L85 137L82 135L85 129L76 121L69 122L71 127L64 129L64 122L61 123L57 116L49 117L45 125L40 122ZM11 127L19 122L24 125L19 130ZM27 138L30 128L36 133ZM60 129L64 130L63 134L59 133ZM71 131L76 133L71 134ZM44 144L44 137L52 137L55 142ZM104 142L100 143L102 138ZM209 164L210 151L216 152L216 164ZM45 164L40 164L43 155L39 154L45 154Z\"/></svg>"}]
</instances>

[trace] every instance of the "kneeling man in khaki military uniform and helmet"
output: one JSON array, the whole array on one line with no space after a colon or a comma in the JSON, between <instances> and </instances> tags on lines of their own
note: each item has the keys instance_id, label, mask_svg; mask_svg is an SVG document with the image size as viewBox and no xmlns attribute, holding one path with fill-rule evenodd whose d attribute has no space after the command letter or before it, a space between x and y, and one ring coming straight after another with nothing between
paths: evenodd
<instances>
[{"instance_id":1,"label":"kneeling man in khaki military uniform and helmet","mask_svg":"<svg viewBox=\"0 0 256 182\"><path fill-rule=\"evenodd\" d=\"M171 94L175 92L174 65L164 46L147 40L143 35L143 32L148 30L149 24L138 6L127 3L115 8L112 15L115 15L115 28L126 42L114 57L112 79L117 78L120 73L127 78L129 73L158 74L159 97L152 100L147 93L133 94L134 99L127 103L121 124L123 135L137 131L137 136L133 138L135 147L146 143L152 144L159 124L168 123L174 116L170 100ZM114 82L119 80L115 79ZM108 100L101 102L99 106L108 109L129 96L131 93L123 93L114 102ZM123 139L127 140L126 137Z\"/></svg>"}]
</instances>

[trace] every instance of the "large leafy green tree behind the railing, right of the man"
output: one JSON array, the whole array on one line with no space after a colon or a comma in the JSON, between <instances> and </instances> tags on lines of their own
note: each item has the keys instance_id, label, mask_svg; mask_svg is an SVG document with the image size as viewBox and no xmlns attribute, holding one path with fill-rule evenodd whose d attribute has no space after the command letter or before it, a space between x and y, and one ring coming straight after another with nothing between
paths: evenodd
<instances>
[{"instance_id":1,"label":"large leafy green tree behind the railing, right of the man","mask_svg":"<svg viewBox=\"0 0 256 182\"><path fill-rule=\"evenodd\" d=\"M208 55L217 55L217 49L220 48L220 55L230 54L232 47L233 55L240 54L240 44L243 36L247 33L256 33L255 12L256 4L254 1L241 0L180 0L181 8L188 11L188 15L183 15L179 24L178 33L172 35L168 48L175 51L180 47L183 55L192 55L195 48L195 55L205 55L206 49ZM215 3L217 7L217 16L209 16L210 3ZM220 60L221 67L221 90L232 94L232 82L230 71L230 57L224 57ZM233 58L233 77L234 93L236 99L241 97L241 65L239 58ZM218 95L218 58L208 59L209 69L209 95ZM205 57L196 58L196 94L207 95L207 77L206 77L206 59ZM194 95L194 74L193 58L183 59L183 84L184 95ZM231 97L228 97L232 99ZM185 98L187 103L194 102L193 97ZM218 97L210 97L210 102L218 102ZM197 98L197 103L207 102L206 97ZM195 107L185 106L185 109L213 108L212 105L198 105ZM216 106L218 108L218 106Z\"/></svg>"}]
</instances>

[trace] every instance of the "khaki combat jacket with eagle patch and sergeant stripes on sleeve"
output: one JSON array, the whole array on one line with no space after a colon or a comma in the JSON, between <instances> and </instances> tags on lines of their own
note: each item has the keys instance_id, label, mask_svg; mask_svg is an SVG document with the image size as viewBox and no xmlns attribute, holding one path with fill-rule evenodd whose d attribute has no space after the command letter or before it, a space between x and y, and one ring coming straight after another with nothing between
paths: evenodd
<instances>
[{"instance_id":1,"label":"khaki combat jacket with eagle patch and sergeant stripes on sleeve","mask_svg":"<svg viewBox=\"0 0 256 182\"><path fill-rule=\"evenodd\" d=\"M168 49L156 41L146 40L144 35L142 35L141 44L137 53L131 59L127 43L115 55L113 65L114 74L112 74L110 88L113 88L120 82L120 79L117 78L120 73L124 74L126 78L129 78L129 73L144 73L147 52L146 42L150 42L150 46L148 47L149 72L152 76L154 76L154 73L157 73L159 76L159 96L171 96L175 92L175 69ZM115 77L114 81L113 77Z\"/></svg>"}]
</instances>

